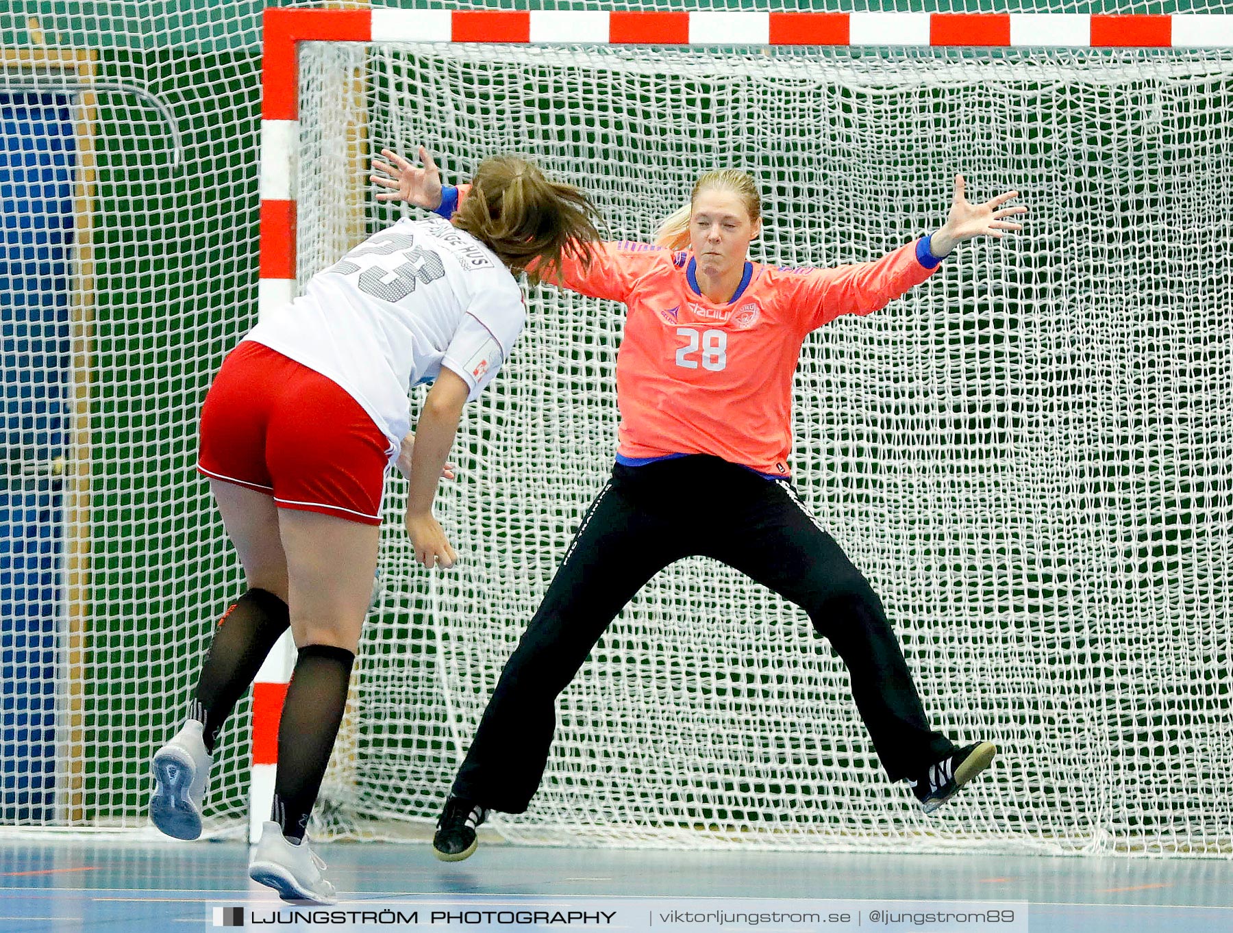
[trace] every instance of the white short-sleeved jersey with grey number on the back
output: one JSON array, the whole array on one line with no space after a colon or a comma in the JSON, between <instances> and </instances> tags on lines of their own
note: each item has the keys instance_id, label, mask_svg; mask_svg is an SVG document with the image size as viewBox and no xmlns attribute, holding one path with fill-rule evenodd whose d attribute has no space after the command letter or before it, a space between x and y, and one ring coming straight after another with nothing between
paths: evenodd
<instances>
[{"instance_id":1,"label":"white short-sleeved jersey with grey number on the back","mask_svg":"<svg viewBox=\"0 0 1233 933\"><path fill-rule=\"evenodd\" d=\"M444 366L476 398L525 320L522 290L492 250L438 217L404 218L314 275L244 339L342 386L393 458L411 429L409 388Z\"/></svg>"}]
</instances>

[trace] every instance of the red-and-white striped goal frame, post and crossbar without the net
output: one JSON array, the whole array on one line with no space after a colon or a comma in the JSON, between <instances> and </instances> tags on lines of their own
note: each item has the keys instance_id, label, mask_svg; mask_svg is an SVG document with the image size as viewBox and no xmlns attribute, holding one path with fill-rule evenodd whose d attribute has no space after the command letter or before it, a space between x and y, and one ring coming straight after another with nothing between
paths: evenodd
<instances>
[{"instance_id":1,"label":"red-and-white striped goal frame, post and crossbar without the net","mask_svg":"<svg viewBox=\"0 0 1233 933\"><path fill-rule=\"evenodd\" d=\"M1233 16L1175 14L825 14L462 10L265 11L261 64L261 246L258 313L293 297L301 42L509 42L655 46L1233 47ZM258 674L253 698L250 836L274 796L290 642Z\"/></svg>"}]
</instances>

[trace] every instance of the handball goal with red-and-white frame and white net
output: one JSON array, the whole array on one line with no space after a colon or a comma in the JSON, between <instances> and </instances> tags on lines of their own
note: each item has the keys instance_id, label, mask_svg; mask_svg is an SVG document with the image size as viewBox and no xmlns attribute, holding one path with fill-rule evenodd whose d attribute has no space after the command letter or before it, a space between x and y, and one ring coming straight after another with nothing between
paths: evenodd
<instances>
[{"instance_id":1,"label":"handball goal with red-and-white frame and white net","mask_svg":"<svg viewBox=\"0 0 1233 933\"><path fill-rule=\"evenodd\" d=\"M366 195L385 145L428 144L448 180L529 153L618 238L731 164L763 185L755 258L788 265L936 228L957 171L1031 206L1021 237L806 340L794 415L803 499L882 594L935 723L1000 746L993 772L919 816L803 616L690 560L562 696L541 792L502 833L1233 853L1231 47L1222 15L266 10L263 308L395 216ZM610 463L619 314L529 304L443 491L459 573L418 573L391 523L380 659L339 752L356 820L435 813Z\"/></svg>"}]
</instances>

